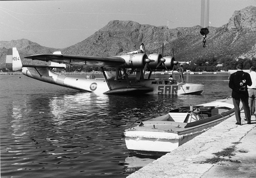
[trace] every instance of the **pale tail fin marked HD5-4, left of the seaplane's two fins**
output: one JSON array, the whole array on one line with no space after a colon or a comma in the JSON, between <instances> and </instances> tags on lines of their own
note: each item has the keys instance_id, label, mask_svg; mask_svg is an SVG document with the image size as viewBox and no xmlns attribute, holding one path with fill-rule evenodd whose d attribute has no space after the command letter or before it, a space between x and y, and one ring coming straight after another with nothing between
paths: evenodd
<instances>
[{"instance_id":1,"label":"pale tail fin marked HD5-4, left of the seaplane's two fins","mask_svg":"<svg viewBox=\"0 0 256 178\"><path fill-rule=\"evenodd\" d=\"M6 55L6 68L11 71L18 71L22 69L22 62L16 47L8 49Z\"/></svg>"}]
</instances>

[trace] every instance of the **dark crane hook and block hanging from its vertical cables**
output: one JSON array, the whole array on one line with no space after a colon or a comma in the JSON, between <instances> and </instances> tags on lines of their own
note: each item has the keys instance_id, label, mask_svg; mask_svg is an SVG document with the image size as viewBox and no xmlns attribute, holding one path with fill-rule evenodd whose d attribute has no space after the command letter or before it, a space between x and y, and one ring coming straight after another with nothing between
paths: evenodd
<instances>
[{"instance_id":1,"label":"dark crane hook and block hanging from its vertical cables","mask_svg":"<svg viewBox=\"0 0 256 178\"><path fill-rule=\"evenodd\" d=\"M205 4L206 1L206 4ZM206 6L206 13L205 13ZM203 35L203 47L205 47L206 43L206 35L209 33L209 0L201 0L201 30L200 33Z\"/></svg>"}]
</instances>

